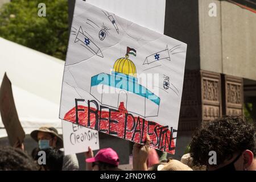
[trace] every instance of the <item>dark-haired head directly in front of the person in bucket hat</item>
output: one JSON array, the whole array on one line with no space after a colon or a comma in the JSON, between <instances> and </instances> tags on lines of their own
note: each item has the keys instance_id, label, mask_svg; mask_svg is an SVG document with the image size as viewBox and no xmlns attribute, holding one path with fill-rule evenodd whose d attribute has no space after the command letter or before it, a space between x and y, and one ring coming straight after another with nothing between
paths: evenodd
<instances>
[{"instance_id":1,"label":"dark-haired head directly in front of the person in bucket hat","mask_svg":"<svg viewBox=\"0 0 256 182\"><path fill-rule=\"evenodd\" d=\"M46 148L41 151L46 152L46 164L40 165L41 171L61 171L63 166L63 151ZM40 156L36 156L35 160L38 160Z\"/></svg>"}]
</instances>

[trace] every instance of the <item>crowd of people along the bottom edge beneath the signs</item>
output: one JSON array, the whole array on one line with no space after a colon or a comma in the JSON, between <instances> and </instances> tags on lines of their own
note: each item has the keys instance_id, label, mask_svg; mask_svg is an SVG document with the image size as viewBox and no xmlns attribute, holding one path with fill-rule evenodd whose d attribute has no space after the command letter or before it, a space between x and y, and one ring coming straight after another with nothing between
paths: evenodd
<instances>
[{"instance_id":1,"label":"crowd of people along the bottom edge beneath the signs","mask_svg":"<svg viewBox=\"0 0 256 182\"><path fill-rule=\"evenodd\" d=\"M64 155L63 140L54 127L32 131L38 142L31 155L23 144L0 146L0 170L75 171L79 170L76 155ZM147 135L144 145L134 143L133 170L135 171L256 171L256 129L241 117L226 116L204 123L193 135L189 151L181 160L158 156L150 147ZM46 162L39 163L39 152L45 152ZM209 161L215 152L216 162ZM102 148L94 156L89 147L85 152L86 170L118 171L119 157L112 148Z\"/></svg>"}]
</instances>

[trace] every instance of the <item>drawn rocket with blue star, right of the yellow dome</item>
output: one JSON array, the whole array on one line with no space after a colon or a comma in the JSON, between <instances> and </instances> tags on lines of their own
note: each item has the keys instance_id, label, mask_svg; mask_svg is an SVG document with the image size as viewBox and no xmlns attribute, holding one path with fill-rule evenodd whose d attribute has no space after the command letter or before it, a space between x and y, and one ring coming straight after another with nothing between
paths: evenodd
<instances>
[{"instance_id":1,"label":"drawn rocket with blue star, right of the yellow dome","mask_svg":"<svg viewBox=\"0 0 256 182\"><path fill-rule=\"evenodd\" d=\"M163 51L159 51L159 52L153 53L150 56L147 56L143 65L151 64L151 63L154 63L155 61L159 61L162 59L167 59L167 60L171 61L170 53L168 50L168 45L166 46L166 49L164 49Z\"/></svg>"}]
</instances>

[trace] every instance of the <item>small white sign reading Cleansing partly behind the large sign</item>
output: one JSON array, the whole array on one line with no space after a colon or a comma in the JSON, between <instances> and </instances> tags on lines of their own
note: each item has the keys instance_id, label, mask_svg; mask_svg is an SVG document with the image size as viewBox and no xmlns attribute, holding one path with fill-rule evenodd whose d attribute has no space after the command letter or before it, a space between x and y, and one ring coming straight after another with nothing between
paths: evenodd
<instances>
[{"instance_id":1,"label":"small white sign reading Cleansing partly behind the large sign","mask_svg":"<svg viewBox=\"0 0 256 182\"><path fill-rule=\"evenodd\" d=\"M87 127L76 125L68 121L62 121L64 154L77 154L100 148L98 142L98 131Z\"/></svg>"}]
</instances>

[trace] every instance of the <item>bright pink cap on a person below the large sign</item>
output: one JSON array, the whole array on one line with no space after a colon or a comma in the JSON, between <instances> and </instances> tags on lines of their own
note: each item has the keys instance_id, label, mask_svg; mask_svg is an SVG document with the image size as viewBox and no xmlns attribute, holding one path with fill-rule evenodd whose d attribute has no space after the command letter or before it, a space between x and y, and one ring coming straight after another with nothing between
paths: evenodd
<instances>
[{"instance_id":1,"label":"bright pink cap on a person below the large sign","mask_svg":"<svg viewBox=\"0 0 256 182\"><path fill-rule=\"evenodd\" d=\"M97 152L94 158L88 158L85 161L86 163L103 162L113 164L115 166L118 166L119 164L117 152L115 152L112 148L102 148Z\"/></svg>"}]
</instances>

